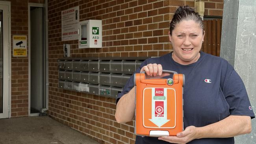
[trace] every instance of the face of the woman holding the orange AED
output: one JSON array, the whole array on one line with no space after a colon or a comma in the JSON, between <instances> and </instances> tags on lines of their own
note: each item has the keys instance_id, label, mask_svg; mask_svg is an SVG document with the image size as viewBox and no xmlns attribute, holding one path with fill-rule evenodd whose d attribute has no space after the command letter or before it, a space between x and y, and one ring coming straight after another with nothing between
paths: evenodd
<instances>
[{"instance_id":1,"label":"face of the woman holding the orange AED","mask_svg":"<svg viewBox=\"0 0 256 144\"><path fill-rule=\"evenodd\" d=\"M182 65L195 63L200 57L203 30L194 20L183 20L176 25L169 39L173 45L173 59Z\"/></svg>"}]
</instances>

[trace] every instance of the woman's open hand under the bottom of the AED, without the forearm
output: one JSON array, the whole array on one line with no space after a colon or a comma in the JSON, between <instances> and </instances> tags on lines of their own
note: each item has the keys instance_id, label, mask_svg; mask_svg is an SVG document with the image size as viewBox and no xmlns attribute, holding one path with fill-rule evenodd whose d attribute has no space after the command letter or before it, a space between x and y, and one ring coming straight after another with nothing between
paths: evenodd
<instances>
[{"instance_id":1,"label":"woman's open hand under the bottom of the AED, without the forearm","mask_svg":"<svg viewBox=\"0 0 256 144\"><path fill-rule=\"evenodd\" d=\"M167 142L171 142L174 144L186 144L193 139L197 138L197 127L189 126L180 133L177 133L177 136L167 136L167 137L159 137L159 140L164 140Z\"/></svg>"}]
</instances>

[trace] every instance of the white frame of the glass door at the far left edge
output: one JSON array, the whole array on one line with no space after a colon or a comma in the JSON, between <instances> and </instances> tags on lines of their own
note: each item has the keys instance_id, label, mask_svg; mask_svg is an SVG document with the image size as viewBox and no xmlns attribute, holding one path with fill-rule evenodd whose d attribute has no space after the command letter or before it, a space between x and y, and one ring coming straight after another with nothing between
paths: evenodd
<instances>
[{"instance_id":1,"label":"white frame of the glass door at the far left edge","mask_svg":"<svg viewBox=\"0 0 256 144\"><path fill-rule=\"evenodd\" d=\"M3 67L3 78L7 76L7 79L3 79L3 105L6 103L5 101L8 101L7 102L8 107L7 109L5 109L5 107L3 106L3 113L0 114L0 118L10 118L11 117L11 80L10 80L11 79L11 2L0 1L0 5L7 6L7 15L8 15L8 22L7 22L8 31L3 33L4 37L8 35L7 36L8 42L6 44L8 47L8 51L7 52L5 51L5 53L3 51L3 56L4 56L3 62L4 62L4 59L7 59L7 61L3 63L4 65L6 65ZM4 27L4 23L3 23L3 27ZM3 49L4 49L4 46L3 46ZM4 83L8 83L7 87L5 88L4 88ZM8 100L4 100L4 98L7 98ZM7 111L7 110L8 112L4 113L4 111Z\"/></svg>"}]
</instances>

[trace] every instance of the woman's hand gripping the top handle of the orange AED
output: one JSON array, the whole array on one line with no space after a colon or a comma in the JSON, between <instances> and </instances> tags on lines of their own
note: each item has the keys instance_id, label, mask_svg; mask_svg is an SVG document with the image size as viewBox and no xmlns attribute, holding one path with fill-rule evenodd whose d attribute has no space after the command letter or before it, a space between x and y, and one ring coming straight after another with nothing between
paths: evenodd
<instances>
[{"instance_id":1,"label":"woman's hand gripping the top handle of the orange AED","mask_svg":"<svg viewBox=\"0 0 256 144\"><path fill-rule=\"evenodd\" d=\"M143 66L141 68L141 72L143 72L143 71L145 71L146 74L149 76L147 78L150 78L153 76L154 76L154 78L163 78L165 76L170 75L169 73L162 73L163 72L162 65L156 64L156 63L153 63L153 64L150 63L146 66Z\"/></svg>"}]
</instances>

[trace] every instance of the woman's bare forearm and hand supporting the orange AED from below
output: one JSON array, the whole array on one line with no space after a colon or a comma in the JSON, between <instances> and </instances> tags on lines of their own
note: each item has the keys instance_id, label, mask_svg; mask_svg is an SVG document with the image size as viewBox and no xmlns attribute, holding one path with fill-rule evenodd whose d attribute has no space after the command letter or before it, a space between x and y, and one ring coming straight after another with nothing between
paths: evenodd
<instances>
[{"instance_id":1,"label":"woman's bare forearm and hand supporting the orange AED from below","mask_svg":"<svg viewBox=\"0 0 256 144\"><path fill-rule=\"evenodd\" d=\"M186 144L198 138L226 138L250 133L252 131L250 116L231 115L223 120L204 127L189 126L174 137L159 137L167 142Z\"/></svg>"}]
</instances>

